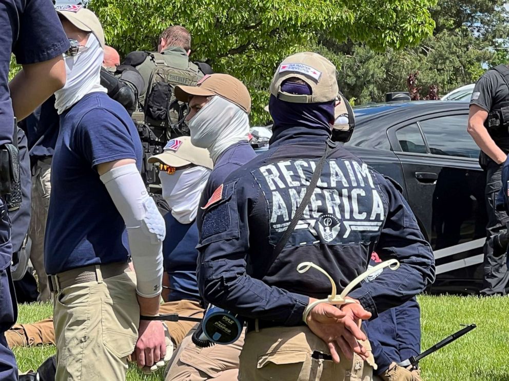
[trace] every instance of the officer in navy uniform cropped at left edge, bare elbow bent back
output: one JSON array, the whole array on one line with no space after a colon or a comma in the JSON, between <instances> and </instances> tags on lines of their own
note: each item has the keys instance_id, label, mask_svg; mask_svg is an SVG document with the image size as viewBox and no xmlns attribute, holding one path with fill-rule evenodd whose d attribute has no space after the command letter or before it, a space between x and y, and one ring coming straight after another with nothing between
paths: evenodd
<instances>
[{"instance_id":1,"label":"officer in navy uniform cropped at left edge, bare elbow bent back","mask_svg":"<svg viewBox=\"0 0 509 381\"><path fill-rule=\"evenodd\" d=\"M0 0L0 145L13 143L14 117L29 115L65 83L69 42L50 0ZM8 82L11 52L23 69ZM17 380L4 332L16 320L10 282L12 246L5 195L0 198L0 379Z\"/></svg>"}]
</instances>

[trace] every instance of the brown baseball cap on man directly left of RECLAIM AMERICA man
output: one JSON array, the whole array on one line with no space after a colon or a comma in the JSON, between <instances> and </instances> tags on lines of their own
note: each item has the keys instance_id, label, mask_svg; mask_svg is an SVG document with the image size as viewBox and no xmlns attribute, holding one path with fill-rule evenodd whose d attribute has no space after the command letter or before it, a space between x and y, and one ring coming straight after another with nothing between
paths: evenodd
<instances>
[{"instance_id":1,"label":"brown baseball cap on man directly left of RECLAIM AMERICA man","mask_svg":"<svg viewBox=\"0 0 509 381\"><path fill-rule=\"evenodd\" d=\"M237 104L249 114L251 111L251 96L244 83L229 74L208 74L196 86L175 86L175 98L182 102L189 102L193 95L220 97Z\"/></svg>"}]
</instances>

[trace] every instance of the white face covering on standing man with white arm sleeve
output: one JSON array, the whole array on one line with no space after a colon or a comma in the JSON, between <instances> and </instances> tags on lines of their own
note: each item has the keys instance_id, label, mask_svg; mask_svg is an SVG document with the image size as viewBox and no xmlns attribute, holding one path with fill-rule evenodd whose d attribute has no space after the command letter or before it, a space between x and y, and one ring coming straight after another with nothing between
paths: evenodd
<instances>
[{"instance_id":1,"label":"white face covering on standing man with white arm sleeve","mask_svg":"<svg viewBox=\"0 0 509 381\"><path fill-rule=\"evenodd\" d=\"M64 57L67 80L65 86L55 92L55 108L62 114L85 95L107 90L101 86L101 66L104 51L93 33L88 36L82 52L74 57Z\"/></svg>"}]
</instances>

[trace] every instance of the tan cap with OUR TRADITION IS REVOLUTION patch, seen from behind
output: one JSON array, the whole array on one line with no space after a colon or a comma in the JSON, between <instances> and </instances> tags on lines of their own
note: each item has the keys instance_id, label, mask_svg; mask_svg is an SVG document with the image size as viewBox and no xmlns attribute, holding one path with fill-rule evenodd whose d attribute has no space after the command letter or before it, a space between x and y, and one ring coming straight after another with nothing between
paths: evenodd
<instances>
[{"instance_id":1,"label":"tan cap with OUR TRADITION IS REVOLUTION patch, seen from behind","mask_svg":"<svg viewBox=\"0 0 509 381\"><path fill-rule=\"evenodd\" d=\"M311 88L311 95L282 92L281 85L292 77L306 82ZM270 83L270 93L273 96L292 103L329 102L336 99L338 91L336 67L327 58L312 52L297 53L285 58Z\"/></svg>"}]
</instances>

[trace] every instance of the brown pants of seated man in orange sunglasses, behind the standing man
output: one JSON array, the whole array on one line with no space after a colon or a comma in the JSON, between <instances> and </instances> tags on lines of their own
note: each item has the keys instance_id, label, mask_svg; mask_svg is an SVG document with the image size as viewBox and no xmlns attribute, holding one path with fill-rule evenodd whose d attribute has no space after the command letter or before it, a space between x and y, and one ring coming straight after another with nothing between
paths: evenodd
<instances>
[{"instance_id":1,"label":"brown pants of seated man in orange sunglasses, behind the standing man","mask_svg":"<svg viewBox=\"0 0 509 381\"><path fill-rule=\"evenodd\" d=\"M178 313L180 316L203 317L203 308L198 302L181 300L166 302L159 308L161 314ZM179 345L184 337L197 323L178 321L163 322L168 327L174 346ZM33 347L37 345L55 344L53 319L45 319L34 324L15 324L5 333L7 344L13 347Z\"/></svg>"}]
</instances>

